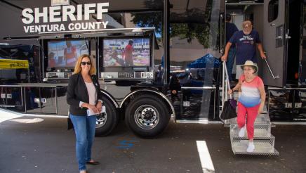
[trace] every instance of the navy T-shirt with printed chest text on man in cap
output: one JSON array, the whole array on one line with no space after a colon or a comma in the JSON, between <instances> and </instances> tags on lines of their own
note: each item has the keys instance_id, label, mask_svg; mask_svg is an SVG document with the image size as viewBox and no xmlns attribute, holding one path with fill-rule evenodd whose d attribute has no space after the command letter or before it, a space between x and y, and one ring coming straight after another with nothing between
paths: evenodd
<instances>
[{"instance_id":1,"label":"navy T-shirt with printed chest text on man in cap","mask_svg":"<svg viewBox=\"0 0 306 173\"><path fill-rule=\"evenodd\" d=\"M244 34L241 30L236 32L231 38L230 43L236 44L236 64L243 65L246 60L257 63L256 44L260 43L259 34L252 30L250 34Z\"/></svg>"}]
</instances>

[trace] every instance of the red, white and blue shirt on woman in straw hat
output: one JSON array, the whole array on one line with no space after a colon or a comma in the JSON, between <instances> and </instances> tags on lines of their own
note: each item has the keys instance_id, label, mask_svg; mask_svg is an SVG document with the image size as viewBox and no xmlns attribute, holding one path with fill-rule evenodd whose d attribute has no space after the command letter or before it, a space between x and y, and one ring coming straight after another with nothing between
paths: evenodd
<instances>
[{"instance_id":1,"label":"red, white and blue shirt on woman in straw hat","mask_svg":"<svg viewBox=\"0 0 306 173\"><path fill-rule=\"evenodd\" d=\"M241 81L241 96L238 101L246 108L253 107L260 103L260 91L259 87L264 87L262 79L256 76L251 82L246 82L244 75L239 78Z\"/></svg>"}]
</instances>

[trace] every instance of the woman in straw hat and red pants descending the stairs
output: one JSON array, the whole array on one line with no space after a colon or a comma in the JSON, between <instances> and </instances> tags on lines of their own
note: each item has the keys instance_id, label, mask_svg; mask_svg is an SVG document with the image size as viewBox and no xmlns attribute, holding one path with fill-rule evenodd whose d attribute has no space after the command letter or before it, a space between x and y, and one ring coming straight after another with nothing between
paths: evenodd
<instances>
[{"instance_id":1,"label":"woman in straw hat and red pants descending the stairs","mask_svg":"<svg viewBox=\"0 0 306 173\"><path fill-rule=\"evenodd\" d=\"M241 89L241 96L238 99L238 135L243 137L247 130L249 142L246 151L253 152L255 150L253 143L254 122L258 113L262 113L265 105L265 87L262 79L256 75L257 65L251 60L246 60L246 63L241 65L241 69L244 73L239 77L238 84L228 92L232 94L232 91Z\"/></svg>"}]
</instances>

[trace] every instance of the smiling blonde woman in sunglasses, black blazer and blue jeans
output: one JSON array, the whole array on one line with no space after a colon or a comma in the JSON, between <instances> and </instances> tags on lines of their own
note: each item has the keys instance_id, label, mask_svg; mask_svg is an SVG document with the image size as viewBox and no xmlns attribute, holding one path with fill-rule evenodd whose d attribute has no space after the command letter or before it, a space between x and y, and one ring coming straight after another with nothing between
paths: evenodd
<instances>
[{"instance_id":1,"label":"smiling blonde woman in sunglasses, black blazer and blue jeans","mask_svg":"<svg viewBox=\"0 0 306 173\"><path fill-rule=\"evenodd\" d=\"M76 158L80 173L86 173L86 163L99 164L91 159L91 146L95 138L95 114L102 110L102 94L98 78L94 74L91 58L86 54L81 55L67 87L69 117L76 134Z\"/></svg>"}]
</instances>

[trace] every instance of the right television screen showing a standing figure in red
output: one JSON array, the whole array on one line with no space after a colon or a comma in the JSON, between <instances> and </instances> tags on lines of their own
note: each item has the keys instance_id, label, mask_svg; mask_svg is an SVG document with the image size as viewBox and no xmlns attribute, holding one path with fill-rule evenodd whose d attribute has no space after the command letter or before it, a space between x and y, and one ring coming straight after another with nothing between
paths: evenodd
<instances>
[{"instance_id":1,"label":"right television screen showing a standing figure in red","mask_svg":"<svg viewBox=\"0 0 306 173\"><path fill-rule=\"evenodd\" d=\"M149 38L103 40L103 67L147 67L149 65Z\"/></svg>"}]
</instances>

